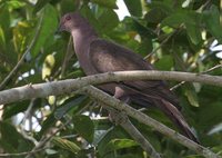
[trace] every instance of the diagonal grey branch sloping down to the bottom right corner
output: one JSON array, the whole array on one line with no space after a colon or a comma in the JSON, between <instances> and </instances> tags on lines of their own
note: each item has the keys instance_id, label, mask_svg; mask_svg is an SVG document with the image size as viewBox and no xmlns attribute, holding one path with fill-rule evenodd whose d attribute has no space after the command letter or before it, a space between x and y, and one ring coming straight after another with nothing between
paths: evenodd
<instances>
[{"instance_id":1,"label":"diagonal grey branch sloping down to the bottom right corner","mask_svg":"<svg viewBox=\"0 0 222 158\"><path fill-rule=\"evenodd\" d=\"M195 152L204 156L205 158L221 158L216 154L212 152L208 148L190 140L189 138L180 135L179 132L170 129L169 127L164 126L163 124L160 124L159 121L150 118L149 116L133 109L132 107L128 106L127 103L104 93L103 91L89 86L84 87L83 91L85 91L91 97L100 100L101 102L105 105L109 105L110 107L118 109L120 111L124 111L128 116L137 119L138 121L148 125L152 127L153 129L158 130L159 132L174 139L175 141L180 142L181 145L188 147L191 150L194 150Z\"/></svg>"}]
</instances>

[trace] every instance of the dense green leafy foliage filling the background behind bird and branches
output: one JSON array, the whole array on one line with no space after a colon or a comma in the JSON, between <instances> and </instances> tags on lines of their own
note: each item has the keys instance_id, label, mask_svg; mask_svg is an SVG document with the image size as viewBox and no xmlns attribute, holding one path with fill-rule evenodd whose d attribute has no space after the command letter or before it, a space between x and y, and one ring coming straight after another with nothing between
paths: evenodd
<instances>
[{"instance_id":1,"label":"dense green leafy foliage filling the background behind bird and branches","mask_svg":"<svg viewBox=\"0 0 222 158\"><path fill-rule=\"evenodd\" d=\"M220 1L124 0L124 3L131 16L121 21L113 11L115 0L38 0L36 4L31 0L0 0L0 82L24 56L1 90L83 76L69 33L54 33L59 18L77 8L81 8L80 12L101 37L134 50L160 70L201 73L221 65L218 51L212 49L216 47L215 40L222 43ZM222 69L209 73L220 76ZM202 145L221 152L222 89L183 83L174 91ZM108 112L87 96L50 96L1 107L0 152L29 151L34 147L32 139L39 141L65 125L46 145L47 149L36 154L38 157L145 157L141 147L112 125ZM148 113L174 128L159 111L151 109ZM165 157L199 157L149 127L133 122Z\"/></svg>"}]
</instances>

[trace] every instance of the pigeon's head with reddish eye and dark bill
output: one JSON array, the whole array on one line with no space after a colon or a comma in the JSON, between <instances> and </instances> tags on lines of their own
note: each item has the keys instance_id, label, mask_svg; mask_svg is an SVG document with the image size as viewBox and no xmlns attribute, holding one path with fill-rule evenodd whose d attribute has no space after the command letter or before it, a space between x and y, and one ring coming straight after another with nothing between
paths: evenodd
<instances>
[{"instance_id":1,"label":"pigeon's head with reddish eye and dark bill","mask_svg":"<svg viewBox=\"0 0 222 158\"><path fill-rule=\"evenodd\" d=\"M78 29L82 21L84 21L84 19L78 12L65 13L60 20L58 32L71 32L72 30Z\"/></svg>"}]
</instances>

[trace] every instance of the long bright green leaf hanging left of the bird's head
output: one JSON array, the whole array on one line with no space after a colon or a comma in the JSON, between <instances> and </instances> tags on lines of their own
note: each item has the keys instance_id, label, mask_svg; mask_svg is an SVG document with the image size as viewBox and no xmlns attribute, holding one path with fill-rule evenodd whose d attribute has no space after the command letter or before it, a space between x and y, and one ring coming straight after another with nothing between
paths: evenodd
<instances>
[{"instance_id":1,"label":"long bright green leaf hanging left of the bird's head","mask_svg":"<svg viewBox=\"0 0 222 158\"><path fill-rule=\"evenodd\" d=\"M33 56L37 56L40 51L40 49L47 45L47 42L50 40L53 40L53 33L57 30L58 21L57 21L57 11L56 9L47 4L44 9L42 10L42 23L40 27L40 31L37 38L37 42L34 43L31 53ZM36 33L37 30L34 30Z\"/></svg>"}]
</instances>

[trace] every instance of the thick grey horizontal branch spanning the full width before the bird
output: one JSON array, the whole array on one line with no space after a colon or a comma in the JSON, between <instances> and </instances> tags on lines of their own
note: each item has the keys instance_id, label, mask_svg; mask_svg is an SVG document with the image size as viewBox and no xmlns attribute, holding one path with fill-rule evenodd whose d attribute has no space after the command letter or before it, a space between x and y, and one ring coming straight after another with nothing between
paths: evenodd
<instances>
[{"instance_id":1,"label":"thick grey horizontal branch spanning the full width before the bird","mask_svg":"<svg viewBox=\"0 0 222 158\"><path fill-rule=\"evenodd\" d=\"M222 87L222 77L196 75L190 72L176 71L119 71L107 72L95 76L88 76L78 79L68 79L63 81L53 81L47 83L28 85L23 87L12 88L0 91L0 105L6 105L19 100L31 98L44 98L48 96L57 96L70 93L84 86L99 85L111 81L122 80L176 80L176 81L193 81L212 86Z\"/></svg>"}]
</instances>

